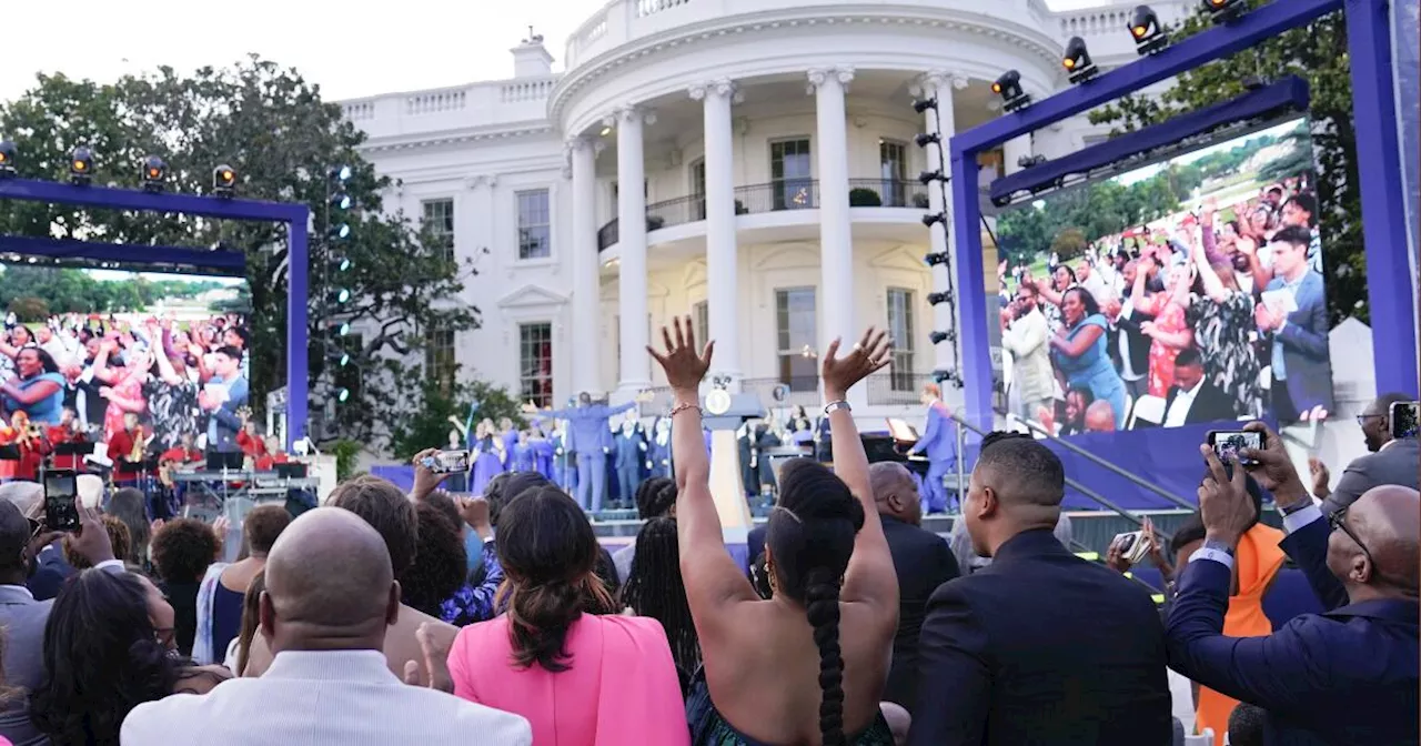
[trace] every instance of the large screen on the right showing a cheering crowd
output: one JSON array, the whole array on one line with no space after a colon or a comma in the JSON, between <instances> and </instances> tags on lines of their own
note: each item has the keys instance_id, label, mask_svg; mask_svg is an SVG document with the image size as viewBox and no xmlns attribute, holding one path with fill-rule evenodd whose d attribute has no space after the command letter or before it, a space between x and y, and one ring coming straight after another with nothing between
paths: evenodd
<instances>
[{"instance_id":1,"label":"large screen on the right showing a cheering crowd","mask_svg":"<svg viewBox=\"0 0 1421 746\"><path fill-rule=\"evenodd\" d=\"M1003 209L1009 406L1057 435L1324 416L1314 185L1296 118Z\"/></svg>"}]
</instances>

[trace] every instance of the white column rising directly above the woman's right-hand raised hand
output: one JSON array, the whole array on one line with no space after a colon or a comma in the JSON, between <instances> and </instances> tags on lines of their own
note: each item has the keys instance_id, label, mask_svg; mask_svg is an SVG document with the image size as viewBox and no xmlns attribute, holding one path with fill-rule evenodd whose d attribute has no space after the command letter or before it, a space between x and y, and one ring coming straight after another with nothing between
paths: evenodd
<instances>
[{"instance_id":1,"label":"white column rising directly above the woman's right-hand raised hand","mask_svg":"<svg viewBox=\"0 0 1421 746\"><path fill-rule=\"evenodd\" d=\"M816 303L823 320L820 351L827 351L836 337L848 347L863 334L854 325L854 237L848 216L848 118L844 112L844 88L853 80L851 67L809 72L818 119L820 288ZM854 389L855 398L864 395L864 386Z\"/></svg>"}]
</instances>

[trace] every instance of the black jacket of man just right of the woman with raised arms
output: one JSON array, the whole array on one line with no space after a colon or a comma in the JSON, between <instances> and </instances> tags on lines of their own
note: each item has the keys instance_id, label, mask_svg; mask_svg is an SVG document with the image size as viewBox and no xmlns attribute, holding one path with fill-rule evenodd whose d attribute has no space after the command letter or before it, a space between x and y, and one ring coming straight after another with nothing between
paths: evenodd
<instances>
[{"instance_id":1,"label":"black jacket of man just right of the woman with raised arms","mask_svg":"<svg viewBox=\"0 0 1421 746\"><path fill-rule=\"evenodd\" d=\"M961 575L958 560L941 536L882 516L884 536L898 575L898 634L892 641L892 668L882 699L912 712L918 692L918 631L928 598L938 585Z\"/></svg>"}]
</instances>

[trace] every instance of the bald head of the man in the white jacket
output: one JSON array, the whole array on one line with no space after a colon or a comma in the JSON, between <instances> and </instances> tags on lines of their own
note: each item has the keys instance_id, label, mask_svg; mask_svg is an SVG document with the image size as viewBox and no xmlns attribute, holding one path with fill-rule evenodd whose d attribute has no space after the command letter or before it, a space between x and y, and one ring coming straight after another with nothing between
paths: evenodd
<instances>
[{"instance_id":1,"label":"bald head of the man in the white jacket","mask_svg":"<svg viewBox=\"0 0 1421 746\"><path fill-rule=\"evenodd\" d=\"M266 563L261 631L281 649L381 649L399 608L385 540L360 516L318 507L281 531Z\"/></svg>"}]
</instances>

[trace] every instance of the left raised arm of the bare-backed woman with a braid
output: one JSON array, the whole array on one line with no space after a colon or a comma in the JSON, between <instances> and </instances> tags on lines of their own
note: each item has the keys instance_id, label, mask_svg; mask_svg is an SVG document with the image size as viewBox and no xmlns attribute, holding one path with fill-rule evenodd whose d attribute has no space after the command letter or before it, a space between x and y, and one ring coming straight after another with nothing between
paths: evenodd
<instances>
[{"instance_id":1,"label":"left raised arm of the bare-backed woman with a braid","mask_svg":"<svg viewBox=\"0 0 1421 746\"><path fill-rule=\"evenodd\" d=\"M676 539L686 601L702 638L720 638L730 622L728 602L757 601L755 588L730 558L720 534L720 514L710 496L710 458L701 435L701 379L710 368L715 342L696 352L691 317L675 320L675 341L662 327L665 354L647 348L671 384L671 453L676 473Z\"/></svg>"}]
</instances>

